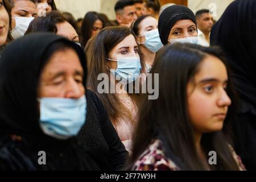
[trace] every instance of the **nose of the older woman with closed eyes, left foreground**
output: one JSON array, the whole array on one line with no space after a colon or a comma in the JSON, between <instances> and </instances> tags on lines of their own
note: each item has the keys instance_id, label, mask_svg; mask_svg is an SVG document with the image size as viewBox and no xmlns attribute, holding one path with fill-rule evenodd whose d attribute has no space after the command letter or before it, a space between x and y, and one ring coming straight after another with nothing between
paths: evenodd
<instances>
[{"instance_id":1,"label":"nose of the older woman with closed eyes, left foreground","mask_svg":"<svg viewBox=\"0 0 256 182\"><path fill-rule=\"evenodd\" d=\"M84 88L76 82L76 80L70 79L67 81L65 87L65 98L79 99L84 94Z\"/></svg>"}]
</instances>

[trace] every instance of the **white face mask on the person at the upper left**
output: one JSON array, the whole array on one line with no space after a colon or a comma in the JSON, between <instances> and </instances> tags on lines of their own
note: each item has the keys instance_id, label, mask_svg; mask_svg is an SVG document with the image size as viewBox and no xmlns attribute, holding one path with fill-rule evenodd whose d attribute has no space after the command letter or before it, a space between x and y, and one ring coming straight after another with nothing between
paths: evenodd
<instances>
[{"instance_id":1,"label":"white face mask on the person at the upper left","mask_svg":"<svg viewBox=\"0 0 256 182\"><path fill-rule=\"evenodd\" d=\"M34 17L11 17L15 19L16 26L11 30L11 36L13 36L14 39L18 39L22 36L24 36L25 32L27 31L28 26L34 19Z\"/></svg>"}]
</instances>

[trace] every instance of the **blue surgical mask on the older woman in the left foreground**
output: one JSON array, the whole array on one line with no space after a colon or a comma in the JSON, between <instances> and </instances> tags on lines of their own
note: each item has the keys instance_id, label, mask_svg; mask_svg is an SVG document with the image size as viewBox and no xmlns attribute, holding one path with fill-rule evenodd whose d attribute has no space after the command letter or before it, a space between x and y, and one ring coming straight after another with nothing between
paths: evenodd
<instances>
[{"instance_id":1,"label":"blue surgical mask on the older woman in the left foreground","mask_svg":"<svg viewBox=\"0 0 256 182\"><path fill-rule=\"evenodd\" d=\"M76 136L85 123L86 98L39 98L40 127L44 134L57 139Z\"/></svg>"}]
</instances>

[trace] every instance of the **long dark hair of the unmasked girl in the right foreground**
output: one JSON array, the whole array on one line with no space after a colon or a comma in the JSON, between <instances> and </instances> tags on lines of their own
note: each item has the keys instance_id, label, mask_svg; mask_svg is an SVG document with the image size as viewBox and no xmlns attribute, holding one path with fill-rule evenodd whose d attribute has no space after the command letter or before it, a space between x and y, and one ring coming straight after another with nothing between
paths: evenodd
<instances>
[{"instance_id":1,"label":"long dark hair of the unmasked girl in the right foreground","mask_svg":"<svg viewBox=\"0 0 256 182\"><path fill-rule=\"evenodd\" d=\"M200 69L205 56L218 57L224 64L225 59L218 47L201 47L193 44L176 44L163 48L156 56L152 73L159 73L159 98L144 98L139 108L139 122L134 135L133 152L129 168L151 144L152 140L163 142L164 152L177 162L181 169L203 170L196 152L193 127L189 121L187 106L187 84ZM226 65L226 64L225 64ZM217 165L213 170L237 170L227 139L230 117L236 108L236 94L233 92L228 71L227 93L232 100L222 131L203 134L201 145L205 152L217 152ZM153 83L154 85L154 83Z\"/></svg>"}]
</instances>

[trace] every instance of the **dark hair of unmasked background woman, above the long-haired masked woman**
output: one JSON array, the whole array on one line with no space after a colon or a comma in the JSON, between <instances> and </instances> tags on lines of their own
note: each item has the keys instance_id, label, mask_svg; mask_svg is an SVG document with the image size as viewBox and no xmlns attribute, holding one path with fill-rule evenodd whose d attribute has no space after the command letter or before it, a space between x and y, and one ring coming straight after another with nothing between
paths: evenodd
<instances>
[{"instance_id":1,"label":"dark hair of unmasked background woman, above the long-haired masked woman","mask_svg":"<svg viewBox=\"0 0 256 182\"><path fill-rule=\"evenodd\" d=\"M85 47L88 40L91 38L93 25L97 20L101 20L103 28L105 26L104 20L101 18L100 14L95 11L89 11L85 14L82 20L81 32L82 32L82 45Z\"/></svg>"}]
</instances>

